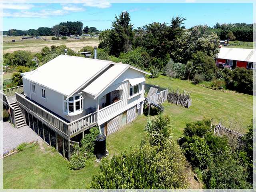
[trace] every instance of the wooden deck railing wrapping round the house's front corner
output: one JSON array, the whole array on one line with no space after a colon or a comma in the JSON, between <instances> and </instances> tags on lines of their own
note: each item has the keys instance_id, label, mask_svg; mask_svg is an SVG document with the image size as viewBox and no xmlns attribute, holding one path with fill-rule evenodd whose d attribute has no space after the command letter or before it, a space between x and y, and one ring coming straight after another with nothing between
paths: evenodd
<instances>
[{"instance_id":1,"label":"wooden deck railing wrapping round the house's front corner","mask_svg":"<svg viewBox=\"0 0 256 192\"><path fill-rule=\"evenodd\" d=\"M16 93L16 100L30 111L34 112L37 116L54 126L56 129L62 131L66 136L74 135L77 132L83 130L86 127L96 125L96 112L88 114L73 122L65 122L56 115L48 112L44 108L40 107L30 99L26 98L22 94Z\"/></svg>"}]
</instances>

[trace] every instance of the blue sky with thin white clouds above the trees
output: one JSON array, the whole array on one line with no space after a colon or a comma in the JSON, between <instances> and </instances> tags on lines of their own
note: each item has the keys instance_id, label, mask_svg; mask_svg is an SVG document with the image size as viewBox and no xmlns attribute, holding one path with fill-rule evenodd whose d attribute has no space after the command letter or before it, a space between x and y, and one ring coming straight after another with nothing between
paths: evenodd
<instances>
[{"instance_id":1,"label":"blue sky with thin white clouds above the trees","mask_svg":"<svg viewBox=\"0 0 256 192\"><path fill-rule=\"evenodd\" d=\"M180 15L190 28L197 24L213 26L219 23L253 22L252 3L109 3L105 0L95 4L88 0L81 4L30 3L4 4L3 30L28 30L38 27L52 27L65 21L81 21L84 26L99 30L111 27L115 14L126 10L131 15L134 27L152 22L170 22Z\"/></svg>"}]
</instances>

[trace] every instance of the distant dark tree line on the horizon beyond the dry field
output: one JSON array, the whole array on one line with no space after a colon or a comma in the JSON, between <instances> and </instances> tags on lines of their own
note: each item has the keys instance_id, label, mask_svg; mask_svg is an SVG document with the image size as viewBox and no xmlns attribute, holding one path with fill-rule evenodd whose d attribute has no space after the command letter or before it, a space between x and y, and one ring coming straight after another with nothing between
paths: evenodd
<instances>
[{"instance_id":1,"label":"distant dark tree line on the horizon beyond the dry field","mask_svg":"<svg viewBox=\"0 0 256 192\"><path fill-rule=\"evenodd\" d=\"M80 21L66 21L61 22L58 25L54 25L52 28L50 27L39 27L36 29L29 29L29 30L18 30L18 29L10 29L8 31L4 31L3 35L7 36L50 36L56 35L57 37L68 36L68 35L82 35L82 33L88 34L99 34L100 31L97 30L96 27L84 27L83 23Z\"/></svg>"}]
</instances>

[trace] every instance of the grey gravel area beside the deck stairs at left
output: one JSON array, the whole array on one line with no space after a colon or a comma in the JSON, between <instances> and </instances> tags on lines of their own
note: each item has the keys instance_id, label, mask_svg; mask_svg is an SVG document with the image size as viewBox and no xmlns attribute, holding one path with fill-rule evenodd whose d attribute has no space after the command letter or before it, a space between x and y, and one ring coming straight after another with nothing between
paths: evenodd
<instances>
[{"instance_id":1,"label":"grey gravel area beside the deck stairs at left","mask_svg":"<svg viewBox=\"0 0 256 192\"><path fill-rule=\"evenodd\" d=\"M3 122L3 153L17 148L24 142L43 141L32 129L28 126L14 128L10 123Z\"/></svg>"}]
</instances>

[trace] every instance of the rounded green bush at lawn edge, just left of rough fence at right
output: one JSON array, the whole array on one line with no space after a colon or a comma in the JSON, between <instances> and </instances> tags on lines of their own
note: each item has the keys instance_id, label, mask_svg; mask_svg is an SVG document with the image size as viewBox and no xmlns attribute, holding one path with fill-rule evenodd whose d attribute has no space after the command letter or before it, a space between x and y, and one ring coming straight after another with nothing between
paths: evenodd
<instances>
[{"instance_id":1,"label":"rounded green bush at lawn edge, just left of rough fence at right","mask_svg":"<svg viewBox=\"0 0 256 192\"><path fill-rule=\"evenodd\" d=\"M187 137L199 136L204 137L210 131L211 120L204 119L196 122L186 123L183 135ZM214 125L213 125L214 127Z\"/></svg>"}]
</instances>

